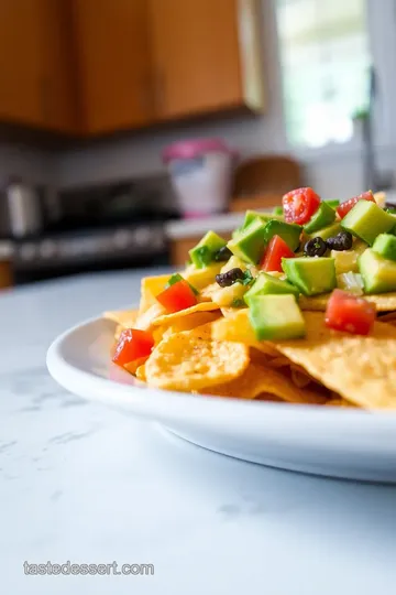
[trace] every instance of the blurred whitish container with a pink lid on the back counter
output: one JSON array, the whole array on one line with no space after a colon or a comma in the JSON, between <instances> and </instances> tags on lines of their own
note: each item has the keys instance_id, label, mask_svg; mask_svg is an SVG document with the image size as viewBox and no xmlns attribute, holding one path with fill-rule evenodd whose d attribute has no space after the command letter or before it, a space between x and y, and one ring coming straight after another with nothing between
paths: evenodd
<instances>
[{"instance_id":1,"label":"blurred whitish container with a pink lid on the back counter","mask_svg":"<svg viewBox=\"0 0 396 595\"><path fill-rule=\"evenodd\" d=\"M186 218L226 210L238 153L220 139L194 139L163 151L179 208Z\"/></svg>"}]
</instances>

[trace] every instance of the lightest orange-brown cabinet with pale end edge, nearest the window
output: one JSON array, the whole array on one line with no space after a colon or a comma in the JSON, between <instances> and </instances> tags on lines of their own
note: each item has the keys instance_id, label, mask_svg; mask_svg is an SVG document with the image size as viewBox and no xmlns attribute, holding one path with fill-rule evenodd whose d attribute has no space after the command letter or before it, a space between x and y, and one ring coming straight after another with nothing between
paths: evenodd
<instances>
[{"instance_id":1,"label":"lightest orange-brown cabinet with pale end edge, nearest the window","mask_svg":"<svg viewBox=\"0 0 396 595\"><path fill-rule=\"evenodd\" d=\"M264 107L255 0L148 0L162 120Z\"/></svg>"}]
</instances>

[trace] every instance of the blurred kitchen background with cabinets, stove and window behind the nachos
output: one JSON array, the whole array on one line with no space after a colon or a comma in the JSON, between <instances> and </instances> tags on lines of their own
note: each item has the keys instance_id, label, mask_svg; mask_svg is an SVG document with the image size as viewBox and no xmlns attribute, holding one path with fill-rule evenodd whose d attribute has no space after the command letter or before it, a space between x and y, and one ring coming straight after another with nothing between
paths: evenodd
<instances>
[{"instance_id":1,"label":"blurred kitchen background with cabinets, stove and window behind the nachos","mask_svg":"<svg viewBox=\"0 0 396 595\"><path fill-rule=\"evenodd\" d=\"M395 56L396 0L1 0L0 285L182 264L299 185L396 202Z\"/></svg>"}]
</instances>

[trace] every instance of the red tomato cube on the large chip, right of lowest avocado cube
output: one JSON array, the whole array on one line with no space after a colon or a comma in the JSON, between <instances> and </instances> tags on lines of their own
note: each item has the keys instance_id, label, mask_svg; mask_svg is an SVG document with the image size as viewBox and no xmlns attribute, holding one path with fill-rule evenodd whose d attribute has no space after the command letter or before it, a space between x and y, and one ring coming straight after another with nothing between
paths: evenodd
<instances>
[{"instance_id":1,"label":"red tomato cube on the large chip, right of lowest avocado cube","mask_svg":"<svg viewBox=\"0 0 396 595\"><path fill-rule=\"evenodd\" d=\"M374 304L342 290L332 292L326 309L327 326L354 335L369 335L374 321Z\"/></svg>"}]
</instances>

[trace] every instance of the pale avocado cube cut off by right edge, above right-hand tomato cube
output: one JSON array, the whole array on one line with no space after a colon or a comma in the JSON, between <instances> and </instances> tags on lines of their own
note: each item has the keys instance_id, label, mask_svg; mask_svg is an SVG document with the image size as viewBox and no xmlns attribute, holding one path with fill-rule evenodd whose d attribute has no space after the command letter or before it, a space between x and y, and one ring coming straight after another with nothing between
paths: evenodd
<instances>
[{"instance_id":1,"label":"pale avocado cube cut off by right edge, above right-hand tomato cube","mask_svg":"<svg viewBox=\"0 0 396 595\"><path fill-rule=\"evenodd\" d=\"M396 291L396 262L367 248L358 260L365 293Z\"/></svg>"}]
</instances>

